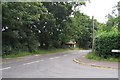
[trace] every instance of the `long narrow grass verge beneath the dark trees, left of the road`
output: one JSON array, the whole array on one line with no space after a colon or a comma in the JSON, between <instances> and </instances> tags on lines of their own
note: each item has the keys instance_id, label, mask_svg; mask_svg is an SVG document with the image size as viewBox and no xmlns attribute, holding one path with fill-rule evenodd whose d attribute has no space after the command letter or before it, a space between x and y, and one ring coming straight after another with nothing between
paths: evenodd
<instances>
[{"instance_id":1,"label":"long narrow grass verge beneath the dark trees, left of the road","mask_svg":"<svg viewBox=\"0 0 120 80\"><path fill-rule=\"evenodd\" d=\"M28 55L35 55L35 54L53 54L53 53L58 53L58 52L65 52L69 51L70 49L48 49L48 50L37 50L32 53L30 52L18 52L10 55L3 55L2 58L17 58L17 57L23 57L23 56L28 56Z\"/></svg>"}]
</instances>

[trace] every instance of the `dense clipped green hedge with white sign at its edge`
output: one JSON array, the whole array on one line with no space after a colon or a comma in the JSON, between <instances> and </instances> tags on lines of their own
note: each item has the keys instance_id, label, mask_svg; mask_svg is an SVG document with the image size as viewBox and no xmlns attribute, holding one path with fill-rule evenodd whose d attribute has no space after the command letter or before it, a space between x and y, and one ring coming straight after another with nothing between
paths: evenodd
<instances>
[{"instance_id":1,"label":"dense clipped green hedge with white sign at its edge","mask_svg":"<svg viewBox=\"0 0 120 80\"><path fill-rule=\"evenodd\" d=\"M108 56L120 57L119 53L111 52L112 49L120 49L120 33L119 32L102 32L95 37L94 50L100 57L107 58Z\"/></svg>"}]
</instances>

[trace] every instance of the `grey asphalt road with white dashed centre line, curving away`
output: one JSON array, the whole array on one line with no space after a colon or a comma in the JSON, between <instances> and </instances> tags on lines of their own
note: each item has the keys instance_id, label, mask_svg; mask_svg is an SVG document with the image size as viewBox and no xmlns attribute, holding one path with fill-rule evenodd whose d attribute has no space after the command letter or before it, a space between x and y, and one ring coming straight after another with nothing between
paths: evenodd
<instances>
[{"instance_id":1,"label":"grey asphalt road with white dashed centre line, curving away","mask_svg":"<svg viewBox=\"0 0 120 80\"><path fill-rule=\"evenodd\" d=\"M74 58L89 50L34 55L3 60L3 78L118 78L118 70L77 64Z\"/></svg>"}]
</instances>

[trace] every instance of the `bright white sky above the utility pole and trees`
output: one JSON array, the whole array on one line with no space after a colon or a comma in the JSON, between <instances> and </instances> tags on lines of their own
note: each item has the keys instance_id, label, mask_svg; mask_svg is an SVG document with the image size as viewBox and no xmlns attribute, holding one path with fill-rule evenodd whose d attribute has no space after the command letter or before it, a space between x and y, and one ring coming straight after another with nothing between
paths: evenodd
<instances>
[{"instance_id":1,"label":"bright white sky above the utility pole and trees","mask_svg":"<svg viewBox=\"0 0 120 80\"><path fill-rule=\"evenodd\" d=\"M112 12L118 1L120 0L90 0L90 3L80 8L80 11L90 17L94 16L101 23L105 23L107 21L105 16Z\"/></svg>"}]
</instances>

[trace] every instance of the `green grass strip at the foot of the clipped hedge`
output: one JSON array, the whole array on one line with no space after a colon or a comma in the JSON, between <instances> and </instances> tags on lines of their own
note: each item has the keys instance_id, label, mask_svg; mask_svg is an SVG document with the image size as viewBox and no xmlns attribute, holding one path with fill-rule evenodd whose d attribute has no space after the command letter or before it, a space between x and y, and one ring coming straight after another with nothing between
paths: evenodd
<instances>
[{"instance_id":1,"label":"green grass strip at the foot of the clipped hedge","mask_svg":"<svg viewBox=\"0 0 120 80\"><path fill-rule=\"evenodd\" d=\"M99 57L99 56L95 55L95 52L90 52L85 57L90 60L120 62L120 59L118 59L118 58L108 57L105 59L105 58Z\"/></svg>"}]
</instances>

